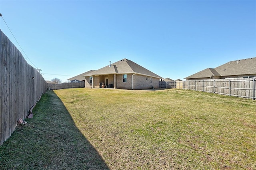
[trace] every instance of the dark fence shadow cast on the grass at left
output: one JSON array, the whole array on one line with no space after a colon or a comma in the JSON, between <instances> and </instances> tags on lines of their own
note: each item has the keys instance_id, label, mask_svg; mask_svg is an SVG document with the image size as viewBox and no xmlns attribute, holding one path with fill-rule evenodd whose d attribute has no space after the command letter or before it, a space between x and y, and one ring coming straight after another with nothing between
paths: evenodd
<instances>
[{"instance_id":1,"label":"dark fence shadow cast on the grass at left","mask_svg":"<svg viewBox=\"0 0 256 170\"><path fill-rule=\"evenodd\" d=\"M108 170L53 91L46 91L12 136L0 146L0 169Z\"/></svg>"}]
</instances>

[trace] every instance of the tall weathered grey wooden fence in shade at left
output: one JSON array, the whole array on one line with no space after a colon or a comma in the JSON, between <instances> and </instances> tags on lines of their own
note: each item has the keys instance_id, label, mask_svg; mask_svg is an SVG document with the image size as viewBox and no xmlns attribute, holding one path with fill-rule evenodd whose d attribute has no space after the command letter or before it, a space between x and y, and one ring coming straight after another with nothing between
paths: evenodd
<instances>
[{"instance_id":1,"label":"tall weathered grey wooden fence in shade at left","mask_svg":"<svg viewBox=\"0 0 256 170\"><path fill-rule=\"evenodd\" d=\"M46 89L42 75L0 30L0 145Z\"/></svg>"}]
</instances>

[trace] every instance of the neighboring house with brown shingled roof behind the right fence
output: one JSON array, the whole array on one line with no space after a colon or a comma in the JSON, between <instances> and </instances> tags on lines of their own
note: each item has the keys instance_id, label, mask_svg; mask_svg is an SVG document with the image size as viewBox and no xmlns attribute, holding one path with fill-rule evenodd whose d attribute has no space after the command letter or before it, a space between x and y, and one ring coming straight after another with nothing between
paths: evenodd
<instances>
[{"instance_id":1,"label":"neighboring house with brown shingled roof behind the right fence","mask_svg":"<svg viewBox=\"0 0 256 170\"><path fill-rule=\"evenodd\" d=\"M206 68L186 77L186 80L256 77L256 57L227 62L216 68Z\"/></svg>"}]
</instances>

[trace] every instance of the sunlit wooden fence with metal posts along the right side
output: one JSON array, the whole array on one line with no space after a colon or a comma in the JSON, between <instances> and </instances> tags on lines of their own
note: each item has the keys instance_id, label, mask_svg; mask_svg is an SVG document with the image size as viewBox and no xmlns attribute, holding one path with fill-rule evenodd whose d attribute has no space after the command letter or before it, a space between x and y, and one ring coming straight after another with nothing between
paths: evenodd
<instances>
[{"instance_id":1,"label":"sunlit wooden fence with metal posts along the right side","mask_svg":"<svg viewBox=\"0 0 256 170\"><path fill-rule=\"evenodd\" d=\"M182 81L182 89L256 99L256 78ZM181 85L177 85L181 88Z\"/></svg>"}]
</instances>

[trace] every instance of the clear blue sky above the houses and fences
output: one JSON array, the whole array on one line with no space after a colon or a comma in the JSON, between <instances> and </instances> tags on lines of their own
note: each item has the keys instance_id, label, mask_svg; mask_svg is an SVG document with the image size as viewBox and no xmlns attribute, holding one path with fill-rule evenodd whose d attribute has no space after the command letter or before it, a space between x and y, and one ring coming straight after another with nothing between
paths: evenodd
<instances>
[{"instance_id":1,"label":"clear blue sky above the houses and fences","mask_svg":"<svg viewBox=\"0 0 256 170\"><path fill-rule=\"evenodd\" d=\"M0 13L46 80L123 58L183 80L256 57L255 0L0 0ZM22 51L4 20L1 30Z\"/></svg>"}]
</instances>

